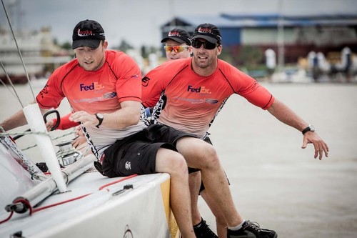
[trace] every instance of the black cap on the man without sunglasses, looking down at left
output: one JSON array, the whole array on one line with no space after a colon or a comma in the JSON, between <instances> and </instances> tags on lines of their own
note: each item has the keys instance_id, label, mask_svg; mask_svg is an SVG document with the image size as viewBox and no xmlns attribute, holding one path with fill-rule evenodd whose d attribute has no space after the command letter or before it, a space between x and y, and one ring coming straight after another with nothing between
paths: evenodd
<instances>
[{"instance_id":1,"label":"black cap on the man without sunglasses, looking down at left","mask_svg":"<svg viewBox=\"0 0 357 238\"><path fill-rule=\"evenodd\" d=\"M79 21L74 27L72 35L72 49L79 46L89 46L93 49L98 48L101 40L105 40L104 29L97 21Z\"/></svg>"}]
</instances>

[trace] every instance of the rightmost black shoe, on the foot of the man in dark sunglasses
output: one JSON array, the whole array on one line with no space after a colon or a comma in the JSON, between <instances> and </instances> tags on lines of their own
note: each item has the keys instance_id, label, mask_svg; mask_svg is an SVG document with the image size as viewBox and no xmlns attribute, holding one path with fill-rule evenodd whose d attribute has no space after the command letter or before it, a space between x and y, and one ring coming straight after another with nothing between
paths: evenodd
<instances>
[{"instance_id":1,"label":"rightmost black shoe, on the foot of the man in dark sunglasses","mask_svg":"<svg viewBox=\"0 0 357 238\"><path fill-rule=\"evenodd\" d=\"M270 229L262 229L257 222L246 220L237 231L227 230L227 238L276 238L278 234Z\"/></svg>"}]
</instances>

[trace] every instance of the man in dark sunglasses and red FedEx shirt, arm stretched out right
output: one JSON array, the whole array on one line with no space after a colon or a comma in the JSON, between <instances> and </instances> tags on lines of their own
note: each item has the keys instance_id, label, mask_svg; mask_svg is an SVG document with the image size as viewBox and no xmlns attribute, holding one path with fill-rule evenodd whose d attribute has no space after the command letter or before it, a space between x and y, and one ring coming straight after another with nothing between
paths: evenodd
<instances>
[{"instance_id":1,"label":"man in dark sunglasses and red FedEx shirt, arm stretched out right","mask_svg":"<svg viewBox=\"0 0 357 238\"><path fill-rule=\"evenodd\" d=\"M327 157L328 146L311 125L275 99L256 80L218 59L222 51L221 41L221 33L216 26L201 24L193 33L191 59L161 64L144 76L143 104L154 106L150 99L161 95L154 108L154 120L185 132L189 129L189 132L204 139L228 97L238 94L302 132L302 148L313 144L315 158L322 159L323 152ZM206 192L215 204L220 205L228 227L226 237L278 237L273 230L261 229L258 224L244 220L238 214L218 158L207 157L193 164L196 169L201 169Z\"/></svg>"}]
</instances>

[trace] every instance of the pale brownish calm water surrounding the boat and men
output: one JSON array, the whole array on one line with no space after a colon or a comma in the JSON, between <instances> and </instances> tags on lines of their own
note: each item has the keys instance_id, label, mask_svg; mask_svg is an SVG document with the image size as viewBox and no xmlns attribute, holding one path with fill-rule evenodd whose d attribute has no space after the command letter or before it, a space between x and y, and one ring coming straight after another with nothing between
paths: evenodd
<instances>
[{"instance_id":1,"label":"pale brownish calm water surrounding the boat and men","mask_svg":"<svg viewBox=\"0 0 357 238\"><path fill-rule=\"evenodd\" d=\"M355 238L357 84L263 86L313 124L330 153L328 159L313 159L311 145L301 149L301 132L245 99L231 96L210 132L238 211L261 227L275 229L282 238ZM40 89L36 86L35 93ZM16 90L24 102L31 100L29 86L16 86ZM14 96L0 86L0 121L19 109ZM66 101L59 111L69 112ZM32 144L31 136L26 137L18 140L21 148ZM43 161L36 148L26 154ZM215 230L214 217L201 198L199 207Z\"/></svg>"}]
</instances>

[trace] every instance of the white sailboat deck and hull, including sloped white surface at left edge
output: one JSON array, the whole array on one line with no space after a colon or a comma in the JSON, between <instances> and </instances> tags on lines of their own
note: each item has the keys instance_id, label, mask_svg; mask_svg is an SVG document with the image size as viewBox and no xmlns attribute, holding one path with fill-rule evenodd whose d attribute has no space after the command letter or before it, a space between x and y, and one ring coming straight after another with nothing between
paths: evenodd
<instances>
[{"instance_id":1,"label":"white sailboat deck and hull, including sloped white surface at left edge","mask_svg":"<svg viewBox=\"0 0 357 238\"><path fill-rule=\"evenodd\" d=\"M39 201L32 199L31 191L46 187L44 183L51 179L31 180L29 172L16 162L14 153L6 151L4 144L0 144L0 152L0 171L8 177L8 182L12 181L6 184L3 180L0 186L4 195L1 196L0 221L4 221L10 214L4 210L6 205L24 197L35 206ZM90 170L71 180L67 192L51 190L56 192L50 192L51 195L32 210L22 214L14 212L11 219L0 224L0 237L15 237L16 233L26 238L179 237L169 206L169 174L109 179L95 169ZM124 189L126 185L132 188ZM77 199L83 195L87 196ZM74 201L66 202L72 199ZM53 204L59 205L51 207ZM44 207L49 208L36 212Z\"/></svg>"}]
</instances>

